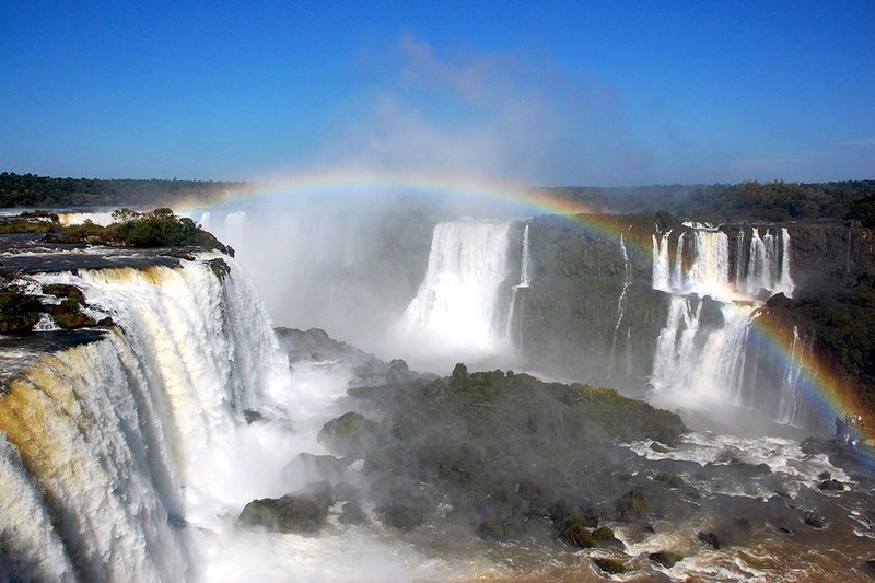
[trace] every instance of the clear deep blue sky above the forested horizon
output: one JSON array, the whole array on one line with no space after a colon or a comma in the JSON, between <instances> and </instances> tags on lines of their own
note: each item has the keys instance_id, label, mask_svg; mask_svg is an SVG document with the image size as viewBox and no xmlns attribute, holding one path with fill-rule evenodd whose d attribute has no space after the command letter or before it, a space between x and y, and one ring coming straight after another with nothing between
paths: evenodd
<instances>
[{"instance_id":1,"label":"clear deep blue sky above the forested horizon","mask_svg":"<svg viewBox=\"0 0 875 583\"><path fill-rule=\"evenodd\" d=\"M875 178L875 2L0 2L0 170Z\"/></svg>"}]
</instances>

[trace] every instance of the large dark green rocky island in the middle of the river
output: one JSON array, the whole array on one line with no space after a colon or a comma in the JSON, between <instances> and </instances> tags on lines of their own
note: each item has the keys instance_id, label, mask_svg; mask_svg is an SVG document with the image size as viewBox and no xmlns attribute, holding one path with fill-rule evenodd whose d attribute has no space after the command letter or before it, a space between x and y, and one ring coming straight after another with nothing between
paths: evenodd
<instances>
[{"instance_id":1,"label":"large dark green rocky island in the middle of the river","mask_svg":"<svg viewBox=\"0 0 875 583\"><path fill-rule=\"evenodd\" d=\"M329 421L319 441L347 459L364 458L383 521L416 527L430 520L429 500L438 499L478 516L477 534L487 539L512 537L538 515L553 517L572 544L621 546L612 532L596 528L598 518L574 509L628 491L614 477L622 455L615 443L674 444L686 430L675 413L612 389L470 373L460 363L445 378L349 393L363 413ZM369 419L372 410L378 422ZM631 503L641 506L627 520L646 514L643 495Z\"/></svg>"}]
</instances>

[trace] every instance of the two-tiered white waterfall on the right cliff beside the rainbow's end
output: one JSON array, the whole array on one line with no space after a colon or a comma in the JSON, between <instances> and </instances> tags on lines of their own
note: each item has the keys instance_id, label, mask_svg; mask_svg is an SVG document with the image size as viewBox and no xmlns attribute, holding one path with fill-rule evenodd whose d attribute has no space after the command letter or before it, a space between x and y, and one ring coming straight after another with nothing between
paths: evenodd
<instances>
[{"instance_id":1,"label":"two-tiered white waterfall on the right cliff beside the rainbow's end","mask_svg":"<svg viewBox=\"0 0 875 583\"><path fill-rule=\"evenodd\" d=\"M673 298L657 340L651 384L657 393L688 401L759 403L761 396L748 386L756 370L756 365L749 369L748 361L756 355L749 354L748 335L762 301L779 292L792 296L790 233L783 229L779 240L771 231L752 228L746 244L747 233L739 231L733 263L725 233L710 225L685 226L687 231L675 240L674 265L668 261L668 234L653 237L653 288ZM713 300L707 324L705 296ZM781 389L784 395L778 399L781 404L772 412L775 419L790 422L797 418L792 412L797 408L793 386L790 375Z\"/></svg>"}]
</instances>

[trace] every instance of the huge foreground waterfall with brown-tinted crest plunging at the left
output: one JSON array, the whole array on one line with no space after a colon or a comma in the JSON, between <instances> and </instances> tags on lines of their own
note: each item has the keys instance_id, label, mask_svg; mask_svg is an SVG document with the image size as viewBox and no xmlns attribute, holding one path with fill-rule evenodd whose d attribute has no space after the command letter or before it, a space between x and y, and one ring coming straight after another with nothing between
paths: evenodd
<instances>
[{"instance_id":1,"label":"huge foreground waterfall with brown-tinted crest plunging at the left","mask_svg":"<svg viewBox=\"0 0 875 583\"><path fill-rule=\"evenodd\" d=\"M238 428L283 401L288 366L238 266L223 258L220 281L210 257L33 276L78 287L117 326L42 357L0 398L0 580L190 579L183 525L208 532L257 493L254 476L279 474L247 459Z\"/></svg>"}]
</instances>

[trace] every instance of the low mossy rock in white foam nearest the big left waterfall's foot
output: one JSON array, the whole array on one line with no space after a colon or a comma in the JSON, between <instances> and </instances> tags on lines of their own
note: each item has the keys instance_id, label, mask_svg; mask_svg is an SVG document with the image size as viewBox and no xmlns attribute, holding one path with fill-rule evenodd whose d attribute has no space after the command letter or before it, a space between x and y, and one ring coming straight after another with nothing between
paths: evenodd
<instances>
[{"instance_id":1,"label":"low mossy rock in white foam nearest the big left waterfall's foot","mask_svg":"<svg viewBox=\"0 0 875 583\"><path fill-rule=\"evenodd\" d=\"M329 505L322 497L264 498L244 506L240 523L280 533L317 533L325 525Z\"/></svg>"}]
</instances>

